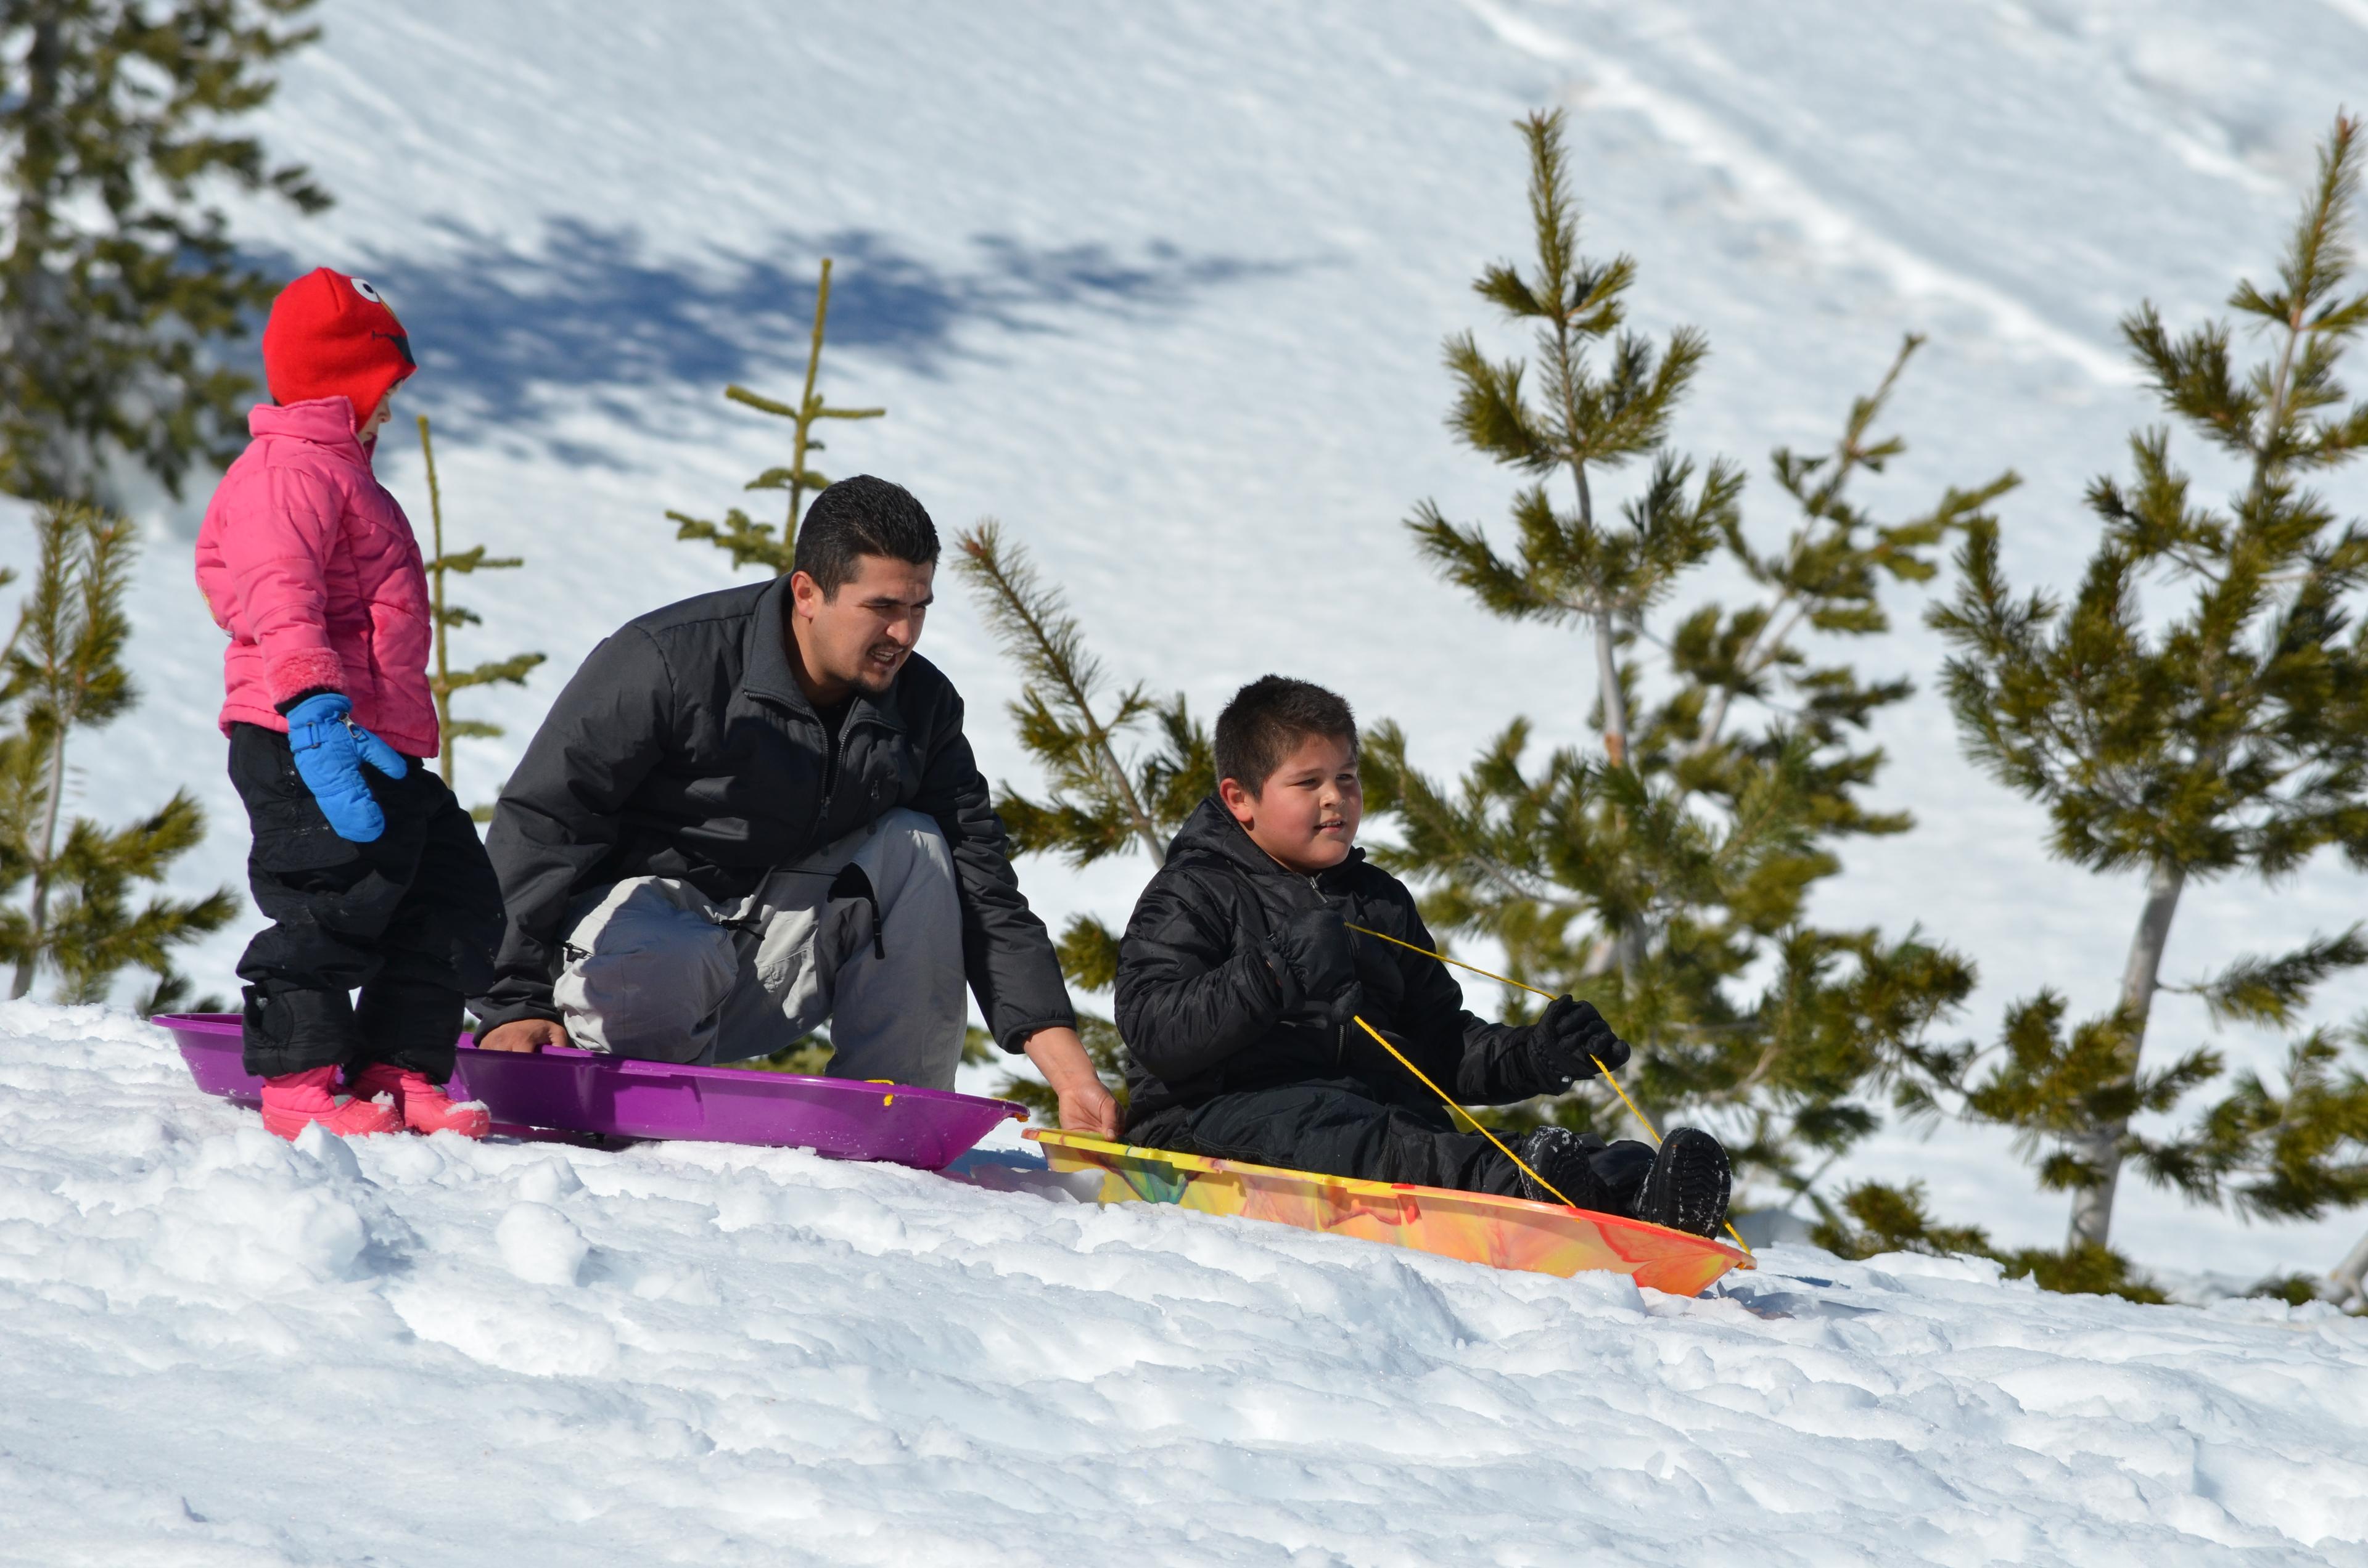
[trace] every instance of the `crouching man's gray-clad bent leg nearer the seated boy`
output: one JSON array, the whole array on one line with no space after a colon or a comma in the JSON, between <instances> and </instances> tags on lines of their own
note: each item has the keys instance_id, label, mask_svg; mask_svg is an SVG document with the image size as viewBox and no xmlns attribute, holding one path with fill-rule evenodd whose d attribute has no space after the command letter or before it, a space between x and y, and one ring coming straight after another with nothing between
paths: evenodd
<instances>
[{"instance_id":1,"label":"crouching man's gray-clad bent leg nearer the seated boy","mask_svg":"<svg viewBox=\"0 0 2368 1568\"><path fill-rule=\"evenodd\" d=\"M727 1056L829 1018L831 1078L954 1087L969 1018L961 898L931 817L886 812L777 874L765 905L758 983L725 1004Z\"/></svg>"}]
</instances>

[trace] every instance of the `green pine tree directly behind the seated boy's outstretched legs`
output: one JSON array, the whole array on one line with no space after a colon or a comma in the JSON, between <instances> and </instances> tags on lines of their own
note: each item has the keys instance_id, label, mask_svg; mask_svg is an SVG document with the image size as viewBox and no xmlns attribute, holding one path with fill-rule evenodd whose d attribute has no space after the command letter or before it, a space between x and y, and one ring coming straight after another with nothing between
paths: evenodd
<instances>
[{"instance_id":1,"label":"green pine tree directly behind the seated boy's outstretched legs","mask_svg":"<svg viewBox=\"0 0 2368 1568\"><path fill-rule=\"evenodd\" d=\"M1530 116L1523 135L1537 265L1523 277L1499 263L1473 287L1534 322L1534 396L1532 365L1489 360L1468 332L1447 341L1447 367L1459 384L1449 429L1534 483L1513 497L1511 554L1428 502L1409 528L1485 609L1589 632L1603 756L1561 748L1532 767L1527 720L1513 720L1440 786L1409 765L1404 734L1378 725L1366 796L1395 812L1402 846L1376 860L1426 888L1435 931L1489 936L1516 978L1596 1000L1641 1047L1629 1087L1648 1108L1710 1120L1738 1165L1804 1191L1812 1156L1830 1165L1875 1125L1861 1092L1973 985L1965 959L1916 933L1807 919L1812 888L1840 869L1835 841L1909 827L1859 801L1883 765L1864 730L1909 682L1819 663L1809 635L1887 630L1880 585L1930 578L1935 547L2015 481L1949 490L1906 523L1880 523L1852 497L1852 481L1902 452L1873 424L1909 339L1830 455L1776 452L1802 516L1762 552L1743 526L1743 474L1712 462L1695 481L1693 460L1667 445L1703 336L1679 329L1655 351L1622 327L1636 263L1579 253L1561 116ZM1639 460L1648 476L1606 516L1598 486ZM1549 478L1568 478L1570 509ZM1752 599L1658 621L1714 557L1752 583ZM1658 696L1639 647L1667 663ZM1757 995L1750 976L1764 976ZM1622 1116L1582 1099L1544 1113L1608 1135Z\"/></svg>"}]
</instances>

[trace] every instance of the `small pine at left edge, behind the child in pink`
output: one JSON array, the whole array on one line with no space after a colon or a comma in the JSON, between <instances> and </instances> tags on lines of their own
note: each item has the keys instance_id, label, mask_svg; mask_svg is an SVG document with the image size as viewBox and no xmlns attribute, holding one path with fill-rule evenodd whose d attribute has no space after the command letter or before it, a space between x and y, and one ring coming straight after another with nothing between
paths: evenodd
<instances>
[{"instance_id":1,"label":"small pine at left edge, behind the child in pink","mask_svg":"<svg viewBox=\"0 0 2368 1568\"><path fill-rule=\"evenodd\" d=\"M133 907L133 883L161 883L166 869L206 836L189 791L128 827L88 817L66 822L66 741L99 730L140 701L123 668L130 621L123 590L133 568L133 526L81 505L36 516L40 564L5 649L0 732L0 959L14 964L12 997L33 990L40 969L59 978L62 1002L99 1002L128 966L156 976L142 1011L182 992L173 947L220 931L237 898L149 898Z\"/></svg>"}]
</instances>

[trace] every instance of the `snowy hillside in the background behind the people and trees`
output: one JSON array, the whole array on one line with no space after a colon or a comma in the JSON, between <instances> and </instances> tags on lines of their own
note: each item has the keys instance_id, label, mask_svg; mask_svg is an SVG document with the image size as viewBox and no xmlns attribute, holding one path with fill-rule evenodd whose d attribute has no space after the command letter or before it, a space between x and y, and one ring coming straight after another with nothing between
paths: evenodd
<instances>
[{"instance_id":1,"label":"snowy hillside in the background behind the people and trees","mask_svg":"<svg viewBox=\"0 0 2368 1568\"><path fill-rule=\"evenodd\" d=\"M476 703L511 737L464 748L469 798L597 637L729 580L663 512L718 514L781 460L774 422L720 388L791 381L824 253L826 391L890 410L834 433L829 471L905 478L947 528L1002 516L1122 677L1201 711L1267 668L1331 680L1447 772L1513 713L1572 737L1591 685L1582 640L1485 618L1399 528L1426 495L1504 509L1506 476L1440 426L1437 343L1485 324L1468 279L1525 244L1518 114L1570 109L1589 244L1639 256L1643 324L1707 329L1677 433L1755 467L1764 526L1783 521L1767 450L1828 441L1918 329L1897 400L1913 452L1880 502L2015 467L2010 568L2065 583L2081 483L2153 417L2115 317L2150 296L2190 322L2264 270L2314 137L2368 83L2363 0L327 0L320 19L260 130L339 206L237 223L291 270L388 291L426 355L403 412L438 419L457 538L528 559L462 595L488 618L466 656L552 656ZM424 516L403 422L384 471ZM187 886L239 883L244 853L211 732L220 644L187 580L201 500L154 512L147 701L76 758L109 817L199 789L215 836ZM1897 609L1890 663L1930 687L1937 647ZM1014 682L957 592L928 651L990 772L1028 779L999 720ZM1823 914L1973 952L1968 1033L2044 983L2103 1004L2136 888L2046 860L2036 812L1961 760L1930 696L1883 739L1880 798L1920 829L1866 850ZM1025 867L1056 919L1122 912L1144 872ZM2169 971L2361 902L2335 867L2205 888ZM249 928L197 955L204 988L230 990ZM2171 1045L2205 1030L2176 997L2160 1018ZM1920 1175L2003 1241L2060 1236L2003 1139L1887 1135L1857 1168ZM2117 1241L2264 1274L2325 1267L2361 1222L2242 1227L2136 1189Z\"/></svg>"}]
</instances>

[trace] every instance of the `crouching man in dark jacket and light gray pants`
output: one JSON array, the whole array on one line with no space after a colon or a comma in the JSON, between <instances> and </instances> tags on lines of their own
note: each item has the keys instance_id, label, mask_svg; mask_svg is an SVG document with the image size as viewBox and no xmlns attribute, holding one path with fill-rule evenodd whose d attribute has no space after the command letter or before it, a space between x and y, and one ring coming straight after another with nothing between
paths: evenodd
<instances>
[{"instance_id":1,"label":"crouching man in dark jacket and light gray pants","mask_svg":"<svg viewBox=\"0 0 2368 1568\"><path fill-rule=\"evenodd\" d=\"M831 1021L831 1071L952 1087L966 1004L1115 1132L1044 921L914 654L938 531L905 488L815 497L786 578L651 611L592 649L502 789L507 931L481 1042L762 1056Z\"/></svg>"}]
</instances>

